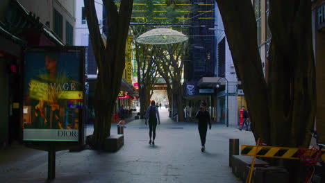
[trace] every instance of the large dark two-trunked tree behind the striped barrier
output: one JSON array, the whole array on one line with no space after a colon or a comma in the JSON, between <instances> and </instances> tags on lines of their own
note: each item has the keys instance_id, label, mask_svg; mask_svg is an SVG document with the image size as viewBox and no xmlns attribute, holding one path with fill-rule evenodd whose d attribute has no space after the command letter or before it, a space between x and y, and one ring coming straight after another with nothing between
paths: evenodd
<instances>
[{"instance_id":1,"label":"large dark two-trunked tree behind the striped barrier","mask_svg":"<svg viewBox=\"0 0 325 183\"><path fill-rule=\"evenodd\" d=\"M216 1L242 81L254 136L269 146L307 148L308 128L313 127L316 108L311 2L270 1L272 46L266 83L251 0ZM287 168L290 182L299 182L299 164L290 163Z\"/></svg>"}]
</instances>

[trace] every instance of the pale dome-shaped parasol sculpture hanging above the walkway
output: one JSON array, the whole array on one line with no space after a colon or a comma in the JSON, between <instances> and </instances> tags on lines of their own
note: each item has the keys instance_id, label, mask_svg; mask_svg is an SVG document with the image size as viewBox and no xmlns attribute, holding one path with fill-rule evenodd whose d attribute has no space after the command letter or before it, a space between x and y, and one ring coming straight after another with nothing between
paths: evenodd
<instances>
[{"instance_id":1,"label":"pale dome-shaped parasol sculpture hanging above the walkway","mask_svg":"<svg viewBox=\"0 0 325 183\"><path fill-rule=\"evenodd\" d=\"M140 44L173 44L185 42L188 36L170 28L155 28L140 35L136 42Z\"/></svg>"}]
</instances>

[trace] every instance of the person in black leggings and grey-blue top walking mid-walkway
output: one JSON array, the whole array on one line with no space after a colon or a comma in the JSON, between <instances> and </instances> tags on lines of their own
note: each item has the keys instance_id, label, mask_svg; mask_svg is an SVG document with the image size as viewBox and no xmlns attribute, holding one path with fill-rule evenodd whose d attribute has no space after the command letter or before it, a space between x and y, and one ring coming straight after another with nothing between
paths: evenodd
<instances>
[{"instance_id":1,"label":"person in black leggings and grey-blue top walking mid-walkway","mask_svg":"<svg viewBox=\"0 0 325 183\"><path fill-rule=\"evenodd\" d=\"M158 121L158 125L160 125L159 112L155 104L156 104L155 101L151 101L151 106L148 107L146 112L146 122L145 122L147 125L147 121L149 119L149 137L150 137L149 144L151 144L151 137L153 137L152 145L155 145L157 121Z\"/></svg>"}]
</instances>

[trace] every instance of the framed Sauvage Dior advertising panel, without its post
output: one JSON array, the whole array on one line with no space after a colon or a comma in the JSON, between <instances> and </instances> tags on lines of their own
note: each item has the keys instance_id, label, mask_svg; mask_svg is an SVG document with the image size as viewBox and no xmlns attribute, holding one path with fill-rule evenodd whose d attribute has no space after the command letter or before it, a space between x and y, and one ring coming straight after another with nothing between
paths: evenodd
<instances>
[{"instance_id":1,"label":"framed Sauvage Dior advertising panel, without its post","mask_svg":"<svg viewBox=\"0 0 325 183\"><path fill-rule=\"evenodd\" d=\"M37 47L24 64L24 141L76 141L83 136L84 48Z\"/></svg>"}]
</instances>

